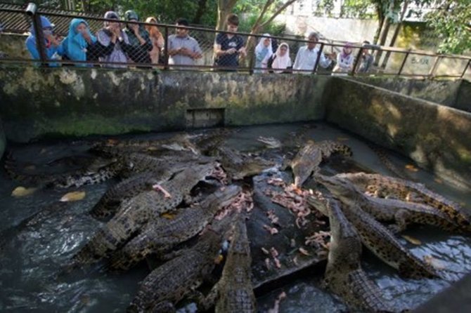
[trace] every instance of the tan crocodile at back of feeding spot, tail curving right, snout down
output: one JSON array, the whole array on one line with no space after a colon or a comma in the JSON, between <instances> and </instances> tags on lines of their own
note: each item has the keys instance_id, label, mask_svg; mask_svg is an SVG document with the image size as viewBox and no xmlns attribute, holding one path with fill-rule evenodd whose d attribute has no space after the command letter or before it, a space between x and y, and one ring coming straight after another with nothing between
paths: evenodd
<instances>
[{"instance_id":1,"label":"tan crocodile at back of feeding spot, tail curving right, snout down","mask_svg":"<svg viewBox=\"0 0 471 313\"><path fill-rule=\"evenodd\" d=\"M292 169L295 186L301 187L313 172L319 170L319 164L334 153L340 153L345 156L351 156L352 154L350 147L339 142L332 140L314 142L314 140L308 140L307 144L302 149L299 149L294 159L285 168L290 167Z\"/></svg>"}]
</instances>

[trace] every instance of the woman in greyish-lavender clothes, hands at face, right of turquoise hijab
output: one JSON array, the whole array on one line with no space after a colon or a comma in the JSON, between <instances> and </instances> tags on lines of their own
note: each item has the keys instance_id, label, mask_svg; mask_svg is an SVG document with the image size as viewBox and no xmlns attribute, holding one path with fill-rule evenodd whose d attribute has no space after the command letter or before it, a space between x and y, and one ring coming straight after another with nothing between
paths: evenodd
<instances>
[{"instance_id":1,"label":"woman in greyish-lavender clothes, hands at face, right of turquoise hijab","mask_svg":"<svg viewBox=\"0 0 471 313\"><path fill-rule=\"evenodd\" d=\"M116 12L108 11L104 18L119 20ZM105 27L96 33L97 44L89 51L89 60L99 60L100 62L124 63L106 64L106 67L127 67L127 48L129 39L127 34L120 29L120 22L103 23Z\"/></svg>"}]
</instances>

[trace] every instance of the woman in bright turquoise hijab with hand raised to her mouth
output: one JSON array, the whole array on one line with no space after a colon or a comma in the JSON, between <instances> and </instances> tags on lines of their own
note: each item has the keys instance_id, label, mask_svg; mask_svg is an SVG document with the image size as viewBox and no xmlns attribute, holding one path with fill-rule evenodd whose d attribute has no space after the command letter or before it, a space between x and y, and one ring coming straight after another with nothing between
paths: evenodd
<instances>
[{"instance_id":1,"label":"woman in bright turquoise hijab with hand raised to her mouth","mask_svg":"<svg viewBox=\"0 0 471 313\"><path fill-rule=\"evenodd\" d=\"M89 25L82 18L73 18L70 21L69 34L62 41L59 54L63 58L72 61L86 61L87 53L93 50L96 44L96 37L90 33ZM89 58L91 55L89 55ZM77 63L75 66L89 66L84 63Z\"/></svg>"}]
</instances>

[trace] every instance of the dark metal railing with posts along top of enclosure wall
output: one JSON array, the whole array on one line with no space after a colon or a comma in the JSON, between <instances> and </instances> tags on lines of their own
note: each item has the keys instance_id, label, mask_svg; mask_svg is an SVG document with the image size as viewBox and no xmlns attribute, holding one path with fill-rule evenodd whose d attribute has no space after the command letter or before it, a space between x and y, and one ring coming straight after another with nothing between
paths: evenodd
<instances>
[{"instance_id":1,"label":"dark metal railing with posts along top of enclosure wall","mask_svg":"<svg viewBox=\"0 0 471 313\"><path fill-rule=\"evenodd\" d=\"M48 58L46 53L45 47L45 39L43 32L41 32L42 25L41 19L39 16L42 15L46 18L49 18L53 24L62 25L60 29L56 28L58 32L56 32L56 36L60 39L63 36L67 35L67 25L72 18L84 18L89 24L89 29L92 34L97 34L100 31L103 31L103 23L119 23L120 29L123 26L129 24L129 21L126 20L115 20L115 19L105 19L105 18L98 18L96 16L91 15L82 15L82 14L75 14L72 12L57 12L57 11L44 11L42 9L36 9L33 6L28 6L26 10L22 8L5 8L0 6L0 17L4 18L6 21L11 21L15 19L22 19L31 21L31 25L34 28L34 32L37 36L35 36L36 46L39 52L39 58L15 58L14 56L4 56L4 58L0 58L0 62L32 62L35 66L41 67L51 67L51 66L93 66L93 67L138 67L138 68L156 68L162 70L237 70L238 72L262 72L268 73L273 72L274 69L269 69L266 67L264 62L260 62L257 59L257 53L255 53L255 46L260 39L263 39L263 35L260 34L248 34L243 32L221 32L214 29L207 29L202 27L184 27L188 29L189 36L193 37L198 44L198 48L200 53L198 53L198 58L192 58L191 62L187 60L185 64L180 64L176 62L176 58L172 55L172 41L174 37L171 35L176 31L176 25L167 25L167 24L160 24L160 23L146 23L146 22L135 22L138 27L157 27L157 29L162 34L164 39L164 45L162 48L159 48L158 54L160 58L158 60L149 61L149 50L148 51L139 51L137 54L138 58L131 58L129 53L127 53L127 58L125 61L116 62L114 60L107 60L106 58L102 58L101 56L98 57L97 55L89 58L89 54L91 54L91 50L88 49L87 51L87 58L86 60L75 60L74 58L67 58L67 53L63 55L62 58ZM0 20L1 23L1 20ZM14 23L13 23L14 24ZM24 25L22 26L24 28ZM8 28L9 32L14 32L15 29ZM129 29L128 29L129 30ZM243 42L244 46L247 49L247 56L245 58L239 58L239 64L237 66L231 65L226 66L224 64L215 63L214 59L214 39L217 38L218 34L228 34L231 36L238 36L240 37ZM173 39L172 39L173 38ZM226 36L224 36L226 38ZM154 45L153 39L149 39L151 44ZM300 40L300 39L293 39L288 38L288 36L270 36L270 40L272 41L270 46L272 47L271 50L273 53L276 52L275 41L278 42L278 46L281 42L285 42L290 47L290 60L292 64L295 63L296 56L299 52L299 48L309 44L307 40ZM250 42L250 44L247 44ZM126 46L127 44L122 43L122 46ZM290 73L304 73L304 74L342 74L342 75L349 75L349 76L363 76L363 75L370 75L370 74L381 74L381 75L396 75L396 76L419 76L423 77L452 77L452 78L462 78L467 74L467 71L470 69L471 57L465 55L444 55L444 54L437 54L432 53L430 51L413 51L411 49L403 49L403 48L391 48L391 47L382 47L382 46L361 46L360 44L352 45L352 55L354 55L353 62L349 67L348 71L346 72L339 72L333 73L332 69L335 65L335 60L337 59L336 53L327 53L325 51L329 50L334 51L334 49L342 50L343 44L333 43L328 41L318 41L316 43L316 60L312 67L308 69L299 69L299 68L287 68L283 72L290 72ZM106 47L105 47L106 48ZM128 47L129 48L129 47ZM137 47L140 48L140 47ZM129 48L131 49L131 48ZM383 58L385 58L385 54L387 54L388 62L387 66L383 68L372 67L368 72L359 72L359 69L363 62L363 50L368 49L373 51L373 55L377 53L381 53ZM103 51L99 49L95 49L98 51L98 54L103 54ZM131 51L131 50L129 50ZM154 51L155 52L155 51ZM334 60L334 62L330 62L330 66L327 69L321 68L321 58L323 58L323 54ZM240 53L242 57L242 53ZM450 65L450 62L453 65ZM379 64L382 64L380 62ZM453 69L453 71L451 71Z\"/></svg>"}]
</instances>

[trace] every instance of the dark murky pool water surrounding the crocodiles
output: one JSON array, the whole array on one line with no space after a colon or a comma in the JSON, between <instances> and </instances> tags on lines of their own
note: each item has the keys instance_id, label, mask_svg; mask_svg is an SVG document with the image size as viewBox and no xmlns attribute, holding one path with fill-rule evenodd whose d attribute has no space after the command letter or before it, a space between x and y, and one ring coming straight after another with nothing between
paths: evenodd
<instances>
[{"instance_id":1,"label":"dark murky pool water surrounding the crocodiles","mask_svg":"<svg viewBox=\"0 0 471 313\"><path fill-rule=\"evenodd\" d=\"M259 135L273 136L285 142L293 139L304 126L285 124L241 128L229 135L226 145L243 151L257 152L263 145L255 139ZM304 127L305 128L305 127ZM367 168L390 175L366 142L326 124L311 124L304 129L307 138L314 140L341 140L354 151L354 160ZM143 135L133 138L161 138L163 135ZM49 161L63 156L82 155L86 142L42 142L13 147L15 156L24 164L30 161L38 170L50 173L60 166L48 166ZM281 161L283 156L279 156ZM392 156L398 166L408 160ZM471 206L471 195L449 187L425 171L411 172L416 180L424 182L430 189L454 201ZM11 192L20 185L0 173L0 310L2 312L123 312L134 297L138 282L148 269L137 267L124 274L109 274L103 270L78 273L73 277L61 277L60 267L82 246L101 222L88 215L93 204L100 199L114 181L100 185L78 188L86 192L82 201L57 204L67 190L39 189L27 197L11 197ZM44 210L44 215L29 222L26 218ZM49 210L49 211L47 211ZM463 274L471 272L471 238L419 227L405 234L420 241L413 245L402 239L411 251L420 258L427 256L433 264L443 268L441 279L402 279L393 269L379 262L370 253L363 253L363 267L368 276L380 286L385 298L400 309L413 308L428 300L434 293L449 286ZM259 310L273 307L275 298L285 291L287 298L280 302L280 312L341 312L345 306L340 300L325 292L321 284L321 273L290 282L280 289L258 298Z\"/></svg>"}]
</instances>

